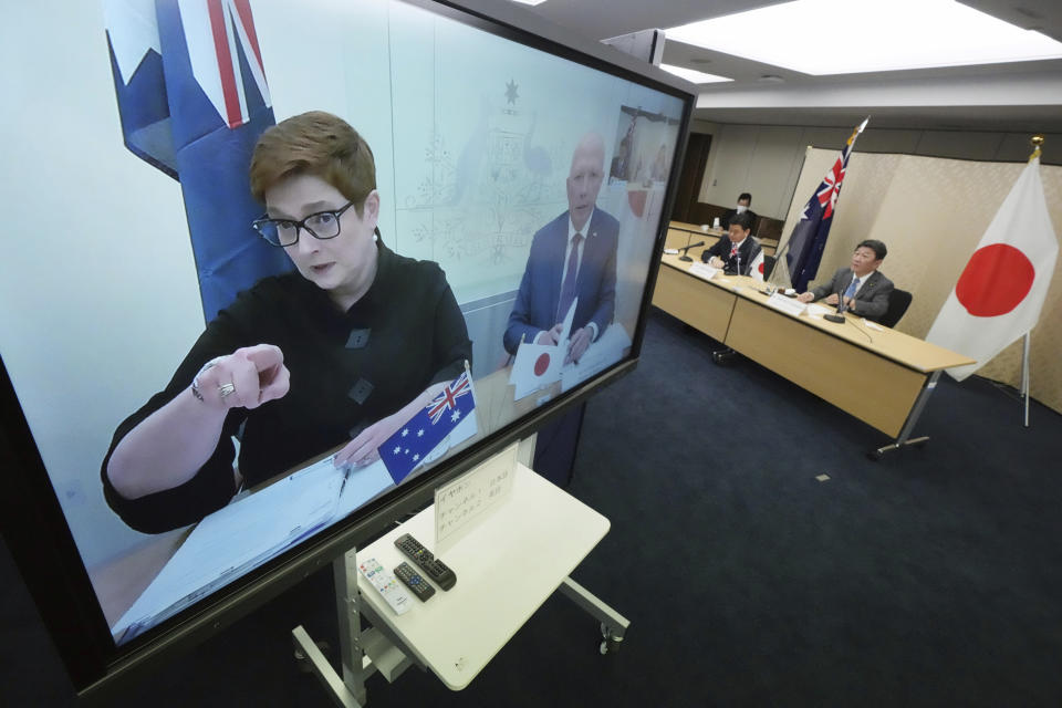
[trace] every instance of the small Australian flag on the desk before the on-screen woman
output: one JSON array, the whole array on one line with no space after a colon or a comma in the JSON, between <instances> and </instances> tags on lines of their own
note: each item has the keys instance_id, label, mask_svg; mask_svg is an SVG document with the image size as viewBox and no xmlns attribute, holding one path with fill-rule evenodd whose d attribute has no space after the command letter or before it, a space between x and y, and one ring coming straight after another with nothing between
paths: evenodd
<instances>
[{"instance_id":1,"label":"small Australian flag on the desk before the on-screen woman","mask_svg":"<svg viewBox=\"0 0 1062 708\"><path fill-rule=\"evenodd\" d=\"M397 485L425 458L450 439L440 451L476 435L476 396L466 371L446 385L435 399L377 448Z\"/></svg>"}]
</instances>

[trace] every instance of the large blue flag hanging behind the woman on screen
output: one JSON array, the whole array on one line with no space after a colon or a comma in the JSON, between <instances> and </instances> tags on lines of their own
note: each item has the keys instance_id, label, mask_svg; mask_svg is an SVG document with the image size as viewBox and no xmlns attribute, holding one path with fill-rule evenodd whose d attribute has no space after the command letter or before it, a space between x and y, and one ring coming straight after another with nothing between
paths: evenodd
<instances>
[{"instance_id":1,"label":"large blue flag hanging behind the woman on screen","mask_svg":"<svg viewBox=\"0 0 1062 708\"><path fill-rule=\"evenodd\" d=\"M180 183L204 316L291 270L258 238L248 167L273 125L250 0L104 0L126 147Z\"/></svg>"}]
</instances>

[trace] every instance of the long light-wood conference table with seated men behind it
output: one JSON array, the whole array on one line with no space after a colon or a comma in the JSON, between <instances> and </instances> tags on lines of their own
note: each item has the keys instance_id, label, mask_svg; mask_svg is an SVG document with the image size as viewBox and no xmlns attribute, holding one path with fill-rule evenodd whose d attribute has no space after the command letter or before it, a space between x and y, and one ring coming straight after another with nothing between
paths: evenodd
<instances>
[{"instance_id":1,"label":"long light-wood conference table with seated men behind it","mask_svg":"<svg viewBox=\"0 0 1062 708\"><path fill-rule=\"evenodd\" d=\"M670 249L686 237L670 229L667 238ZM691 273L700 250L690 249L694 262L664 253L654 305L894 438L875 459L928 439L910 434L940 373L972 360L852 314L843 324L812 309L793 315L759 280Z\"/></svg>"}]
</instances>

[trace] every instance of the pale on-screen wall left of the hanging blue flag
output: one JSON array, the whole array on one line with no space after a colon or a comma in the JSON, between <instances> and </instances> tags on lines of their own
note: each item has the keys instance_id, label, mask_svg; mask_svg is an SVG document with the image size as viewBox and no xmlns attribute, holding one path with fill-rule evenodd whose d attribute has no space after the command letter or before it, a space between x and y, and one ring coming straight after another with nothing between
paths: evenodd
<instances>
[{"instance_id":1,"label":"pale on-screen wall left of the hanging blue flag","mask_svg":"<svg viewBox=\"0 0 1062 708\"><path fill-rule=\"evenodd\" d=\"M111 435L202 331L180 186L122 148L103 28L58 0L0 23L0 352L90 564L138 537L101 512Z\"/></svg>"}]
</instances>

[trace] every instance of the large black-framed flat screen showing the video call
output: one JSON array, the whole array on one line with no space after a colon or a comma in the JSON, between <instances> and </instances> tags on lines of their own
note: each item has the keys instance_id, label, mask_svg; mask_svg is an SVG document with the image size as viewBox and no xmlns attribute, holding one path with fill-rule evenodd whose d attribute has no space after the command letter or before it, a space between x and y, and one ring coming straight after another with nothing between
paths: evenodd
<instances>
[{"instance_id":1,"label":"large black-framed flat screen showing the video call","mask_svg":"<svg viewBox=\"0 0 1062 708\"><path fill-rule=\"evenodd\" d=\"M2 14L4 528L79 689L636 360L689 94L431 2Z\"/></svg>"}]
</instances>

